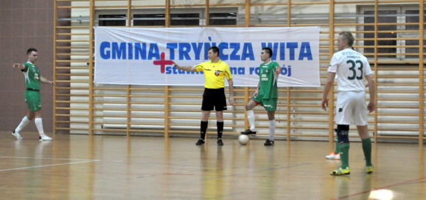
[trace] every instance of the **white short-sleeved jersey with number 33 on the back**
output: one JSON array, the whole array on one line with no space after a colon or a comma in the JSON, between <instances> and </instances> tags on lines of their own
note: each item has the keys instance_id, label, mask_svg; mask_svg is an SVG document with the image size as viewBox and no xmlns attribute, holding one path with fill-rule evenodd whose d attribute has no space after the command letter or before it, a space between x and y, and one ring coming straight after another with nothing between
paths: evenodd
<instances>
[{"instance_id":1,"label":"white short-sleeved jersey with number 33 on the back","mask_svg":"<svg viewBox=\"0 0 426 200\"><path fill-rule=\"evenodd\" d=\"M337 74L339 91L366 91L363 79L372 74L366 56L352 49L343 49L333 54L328 71Z\"/></svg>"}]
</instances>

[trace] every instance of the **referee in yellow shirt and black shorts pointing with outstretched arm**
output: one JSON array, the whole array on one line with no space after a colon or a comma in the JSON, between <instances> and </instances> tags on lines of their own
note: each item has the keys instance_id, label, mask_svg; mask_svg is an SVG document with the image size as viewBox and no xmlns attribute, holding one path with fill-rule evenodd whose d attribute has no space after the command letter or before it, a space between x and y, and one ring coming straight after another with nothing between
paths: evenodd
<instances>
[{"instance_id":1,"label":"referee in yellow shirt and black shorts pointing with outstretched arm","mask_svg":"<svg viewBox=\"0 0 426 200\"><path fill-rule=\"evenodd\" d=\"M205 76L205 89L203 93L203 104L201 110L203 115L201 117L201 137L196 145L205 143L205 131L207 131L208 120L210 111L216 110L216 124L217 124L217 144L223 146L222 133L223 133L223 111L226 108L225 98L225 77L229 84L229 103L234 104L234 82L232 82L232 74L229 66L219 59L219 48L214 46L208 49L208 57L210 61L200 63L195 66L179 66L175 62L173 64L177 69L183 71L203 71Z\"/></svg>"}]
</instances>

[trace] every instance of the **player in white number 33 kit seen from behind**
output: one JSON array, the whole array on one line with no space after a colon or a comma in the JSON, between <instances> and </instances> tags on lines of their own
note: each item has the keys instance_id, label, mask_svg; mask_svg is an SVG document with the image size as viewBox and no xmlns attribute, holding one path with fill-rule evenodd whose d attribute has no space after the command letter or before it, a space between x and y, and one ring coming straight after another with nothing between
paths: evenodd
<instances>
[{"instance_id":1,"label":"player in white number 33 kit seen from behind","mask_svg":"<svg viewBox=\"0 0 426 200\"><path fill-rule=\"evenodd\" d=\"M328 78L322 96L322 109L328 107L328 93L337 76L339 94L337 96L335 122L337 124L337 140L341 167L330 175L349 175L349 125L351 118L357 126L361 137L364 157L366 158L366 172L373 172L371 162L371 140L368 135L368 112L376 109L376 87L368 60L362 54L352 50L354 37L350 32L341 32L337 38L339 52L333 54L328 67ZM366 77L370 90L370 102L366 104L366 87L363 78Z\"/></svg>"}]
</instances>

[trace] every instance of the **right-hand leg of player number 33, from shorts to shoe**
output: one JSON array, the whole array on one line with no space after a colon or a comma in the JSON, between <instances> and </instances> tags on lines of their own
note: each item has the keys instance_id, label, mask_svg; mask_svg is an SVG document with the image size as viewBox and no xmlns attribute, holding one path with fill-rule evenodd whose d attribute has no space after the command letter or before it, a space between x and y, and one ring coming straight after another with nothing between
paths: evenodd
<instances>
[{"instance_id":1,"label":"right-hand leg of player number 33, from shorts to shoe","mask_svg":"<svg viewBox=\"0 0 426 200\"><path fill-rule=\"evenodd\" d=\"M358 94L354 111L354 122L355 125L357 125L359 137L361 137L362 150L366 158L366 171L367 173L372 173L374 170L374 166L371 162L372 144L370 135L368 134L368 109L364 92Z\"/></svg>"}]
</instances>

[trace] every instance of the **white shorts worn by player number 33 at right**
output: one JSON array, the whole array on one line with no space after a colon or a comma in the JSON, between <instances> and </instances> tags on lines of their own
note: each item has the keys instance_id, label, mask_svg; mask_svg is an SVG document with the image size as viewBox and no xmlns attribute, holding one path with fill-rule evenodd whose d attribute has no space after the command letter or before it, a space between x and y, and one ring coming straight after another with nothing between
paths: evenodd
<instances>
[{"instance_id":1,"label":"white shorts worn by player number 33 at right","mask_svg":"<svg viewBox=\"0 0 426 200\"><path fill-rule=\"evenodd\" d=\"M365 91L339 91L337 95L336 124L350 125L352 118L356 126L368 124Z\"/></svg>"}]
</instances>

